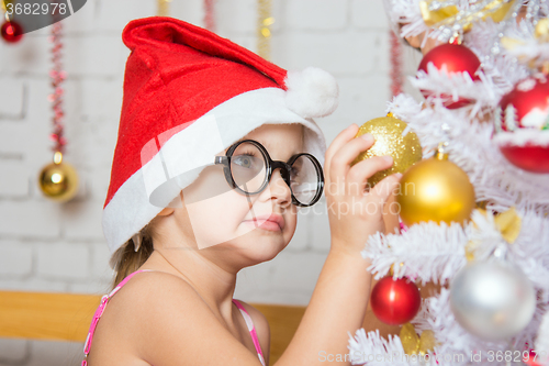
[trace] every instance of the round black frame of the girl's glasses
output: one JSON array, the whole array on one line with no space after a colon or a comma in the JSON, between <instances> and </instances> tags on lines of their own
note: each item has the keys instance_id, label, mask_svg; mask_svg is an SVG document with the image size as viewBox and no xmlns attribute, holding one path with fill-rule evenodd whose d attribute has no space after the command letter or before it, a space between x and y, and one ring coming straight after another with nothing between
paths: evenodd
<instances>
[{"instance_id":1,"label":"round black frame of the girl's glasses","mask_svg":"<svg viewBox=\"0 0 549 366\"><path fill-rule=\"evenodd\" d=\"M264 182L261 184L261 187L259 187L259 189L255 192L247 192L247 191L240 189L236 185L235 180L233 179L233 171L231 170L231 158L233 157L233 153L236 151L236 148L240 144L244 144L244 143L250 143L250 144L255 145L264 155L265 162L267 162L267 174L265 176ZM307 156L311 159L311 162L313 163L313 165L316 169L316 177L318 178L317 184L320 186L320 189L316 190L315 197L313 198L313 200L309 204L302 203L295 198L295 196L293 195L292 186L290 184L290 170L292 168L292 165L302 155ZM300 153L300 154L295 154L292 157L290 157L290 159L288 162L273 160L273 159L271 159L269 153L264 147L264 145L261 145L259 142L257 142L255 140L243 140L243 141L237 142L236 144L233 144L227 149L227 153L225 154L225 156L215 156L214 164L223 165L223 173L225 174L225 179L227 180L227 184L232 188L237 189L238 191L243 192L246 196L254 196L254 195L258 195L258 193L262 192L265 190L265 188L267 188L267 185L269 184L269 181L271 180L272 173L279 168L280 168L280 175L282 176L282 179L284 179L285 184L290 188L290 192L292 195L292 203L295 206L310 207L310 206L315 204L321 199L322 192L324 190L324 174L322 170L322 166L321 166L321 163L313 155L311 155L309 153Z\"/></svg>"}]
</instances>

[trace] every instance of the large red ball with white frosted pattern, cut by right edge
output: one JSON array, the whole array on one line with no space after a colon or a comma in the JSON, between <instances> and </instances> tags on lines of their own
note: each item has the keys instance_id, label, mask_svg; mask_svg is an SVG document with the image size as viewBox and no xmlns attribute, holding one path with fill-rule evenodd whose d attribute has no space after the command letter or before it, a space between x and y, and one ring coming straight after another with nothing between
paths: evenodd
<instances>
[{"instance_id":1,"label":"large red ball with white frosted pattern, cut by right edge","mask_svg":"<svg viewBox=\"0 0 549 366\"><path fill-rule=\"evenodd\" d=\"M505 95L496 110L496 143L513 165L549 173L549 81L529 77Z\"/></svg>"}]
</instances>

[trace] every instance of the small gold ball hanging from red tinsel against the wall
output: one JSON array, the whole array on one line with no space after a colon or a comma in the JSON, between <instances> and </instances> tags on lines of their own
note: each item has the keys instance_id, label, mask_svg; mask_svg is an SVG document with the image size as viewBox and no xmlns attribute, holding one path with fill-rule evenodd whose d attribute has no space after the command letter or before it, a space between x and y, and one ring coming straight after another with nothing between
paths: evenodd
<instances>
[{"instance_id":1,"label":"small gold ball hanging from red tinsel against the wall","mask_svg":"<svg viewBox=\"0 0 549 366\"><path fill-rule=\"evenodd\" d=\"M52 163L40 173L38 184L47 198L65 202L75 197L77 192L78 175L75 168L67 163Z\"/></svg>"}]
</instances>

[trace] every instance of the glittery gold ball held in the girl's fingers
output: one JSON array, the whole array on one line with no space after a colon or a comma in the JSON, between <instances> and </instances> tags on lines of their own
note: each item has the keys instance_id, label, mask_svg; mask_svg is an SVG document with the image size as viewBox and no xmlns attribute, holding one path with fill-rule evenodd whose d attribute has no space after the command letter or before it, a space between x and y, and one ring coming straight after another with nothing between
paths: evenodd
<instances>
[{"instance_id":1,"label":"glittery gold ball held in the girl's fingers","mask_svg":"<svg viewBox=\"0 0 549 366\"><path fill-rule=\"evenodd\" d=\"M408 131L402 135L407 124L393 117L381 117L366 122L360 126L356 137L365 133L371 133L376 143L368 151L360 153L351 166L360 160L373 156L391 155L393 166L389 169L376 173L368 179L370 187L376 186L381 179L395 173L404 173L408 167L422 159L422 145L417 135Z\"/></svg>"}]
</instances>

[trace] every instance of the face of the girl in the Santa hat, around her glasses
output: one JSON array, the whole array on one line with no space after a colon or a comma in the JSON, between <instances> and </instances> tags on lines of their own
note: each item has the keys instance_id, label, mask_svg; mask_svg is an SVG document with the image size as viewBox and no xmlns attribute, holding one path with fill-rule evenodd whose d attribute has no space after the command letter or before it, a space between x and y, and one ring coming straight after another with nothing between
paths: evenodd
<instances>
[{"instance_id":1,"label":"face of the girl in the Santa hat, around her glasses","mask_svg":"<svg viewBox=\"0 0 549 366\"><path fill-rule=\"evenodd\" d=\"M273 160L288 162L303 152L301 124L264 124L245 138L259 142ZM183 235L203 255L223 257L235 266L272 259L295 232L298 208L280 169L272 173L265 190L246 196L228 186L222 165L209 166L182 190L182 201L183 208L175 213L181 218ZM271 221L276 219L279 224Z\"/></svg>"}]
</instances>

